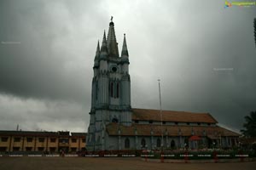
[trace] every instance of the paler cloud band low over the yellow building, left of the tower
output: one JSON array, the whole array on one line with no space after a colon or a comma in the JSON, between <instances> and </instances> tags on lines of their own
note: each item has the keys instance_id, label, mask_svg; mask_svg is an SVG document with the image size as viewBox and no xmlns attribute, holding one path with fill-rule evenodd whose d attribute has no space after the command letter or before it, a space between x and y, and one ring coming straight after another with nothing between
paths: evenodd
<instances>
[{"instance_id":1,"label":"paler cloud band low over the yellow building, left of the tower","mask_svg":"<svg viewBox=\"0 0 256 170\"><path fill-rule=\"evenodd\" d=\"M19 99L1 95L0 129L14 130L19 125L22 130L84 132L88 126L84 107L89 106L70 101Z\"/></svg>"}]
</instances>

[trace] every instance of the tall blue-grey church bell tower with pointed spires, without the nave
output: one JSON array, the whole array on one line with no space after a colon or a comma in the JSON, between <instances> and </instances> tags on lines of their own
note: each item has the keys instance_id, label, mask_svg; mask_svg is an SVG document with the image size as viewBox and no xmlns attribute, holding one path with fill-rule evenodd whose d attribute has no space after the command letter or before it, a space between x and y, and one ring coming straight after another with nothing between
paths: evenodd
<instances>
[{"instance_id":1,"label":"tall blue-grey church bell tower with pointed spires, without the nave","mask_svg":"<svg viewBox=\"0 0 256 170\"><path fill-rule=\"evenodd\" d=\"M131 78L129 54L124 34L119 56L113 17L109 23L108 37L103 33L102 45L96 47L91 88L90 126L87 148L105 150L106 125L119 123L131 126Z\"/></svg>"}]
</instances>

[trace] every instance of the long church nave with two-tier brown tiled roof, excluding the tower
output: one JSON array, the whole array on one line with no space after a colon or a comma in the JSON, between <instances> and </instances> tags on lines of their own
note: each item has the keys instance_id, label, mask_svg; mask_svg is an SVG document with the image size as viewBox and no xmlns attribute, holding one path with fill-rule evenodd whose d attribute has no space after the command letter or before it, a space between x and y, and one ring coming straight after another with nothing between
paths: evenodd
<instances>
[{"instance_id":1,"label":"long church nave with two-tier brown tiled roof, excluding the tower","mask_svg":"<svg viewBox=\"0 0 256 170\"><path fill-rule=\"evenodd\" d=\"M239 133L219 127L209 113L132 109L132 124L111 122L105 136L109 148L116 150L160 150L189 147L231 148ZM162 122L160 121L162 119ZM116 145L117 144L117 145Z\"/></svg>"}]
</instances>

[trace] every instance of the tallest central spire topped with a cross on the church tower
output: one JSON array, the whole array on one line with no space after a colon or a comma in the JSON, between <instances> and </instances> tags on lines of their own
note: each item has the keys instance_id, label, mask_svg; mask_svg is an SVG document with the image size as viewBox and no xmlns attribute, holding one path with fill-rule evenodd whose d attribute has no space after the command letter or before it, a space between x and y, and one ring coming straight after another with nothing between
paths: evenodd
<instances>
[{"instance_id":1,"label":"tallest central spire topped with a cross on the church tower","mask_svg":"<svg viewBox=\"0 0 256 170\"><path fill-rule=\"evenodd\" d=\"M111 21L109 23L108 29L108 54L109 57L118 58L119 57L119 48L118 43L116 42L114 27L113 27L113 16L111 16Z\"/></svg>"}]
</instances>

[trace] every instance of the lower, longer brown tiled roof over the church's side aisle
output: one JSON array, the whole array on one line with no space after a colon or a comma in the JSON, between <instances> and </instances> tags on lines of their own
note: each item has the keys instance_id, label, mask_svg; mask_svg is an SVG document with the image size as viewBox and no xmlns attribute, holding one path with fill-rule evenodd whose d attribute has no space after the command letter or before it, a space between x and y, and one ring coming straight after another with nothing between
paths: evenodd
<instances>
[{"instance_id":1,"label":"lower, longer brown tiled roof over the church's side aisle","mask_svg":"<svg viewBox=\"0 0 256 170\"><path fill-rule=\"evenodd\" d=\"M121 136L161 136L161 129L164 135L168 136L207 136L208 138L219 138L220 136L240 136L239 133L232 132L224 127L211 126L177 126L177 125L154 125L154 124L132 124L127 127L118 123L107 125L109 135ZM120 134L119 134L120 131Z\"/></svg>"}]
</instances>

